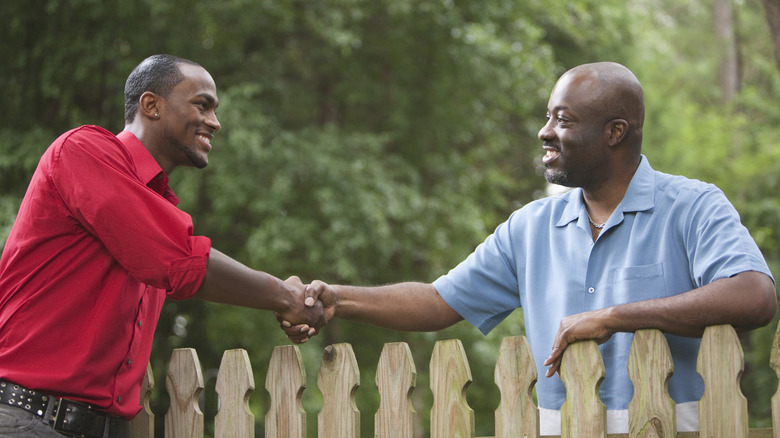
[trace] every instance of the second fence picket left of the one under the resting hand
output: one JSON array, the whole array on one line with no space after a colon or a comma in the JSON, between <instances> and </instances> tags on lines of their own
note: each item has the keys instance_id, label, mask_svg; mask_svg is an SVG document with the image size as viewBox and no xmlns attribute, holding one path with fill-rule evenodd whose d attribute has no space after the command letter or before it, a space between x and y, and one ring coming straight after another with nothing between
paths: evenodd
<instances>
[{"instance_id":1,"label":"second fence picket left of the one under the resting hand","mask_svg":"<svg viewBox=\"0 0 780 438\"><path fill-rule=\"evenodd\" d=\"M471 369L459 339L437 341L430 364L431 438L471 438L474 411L466 401Z\"/></svg>"}]
</instances>

